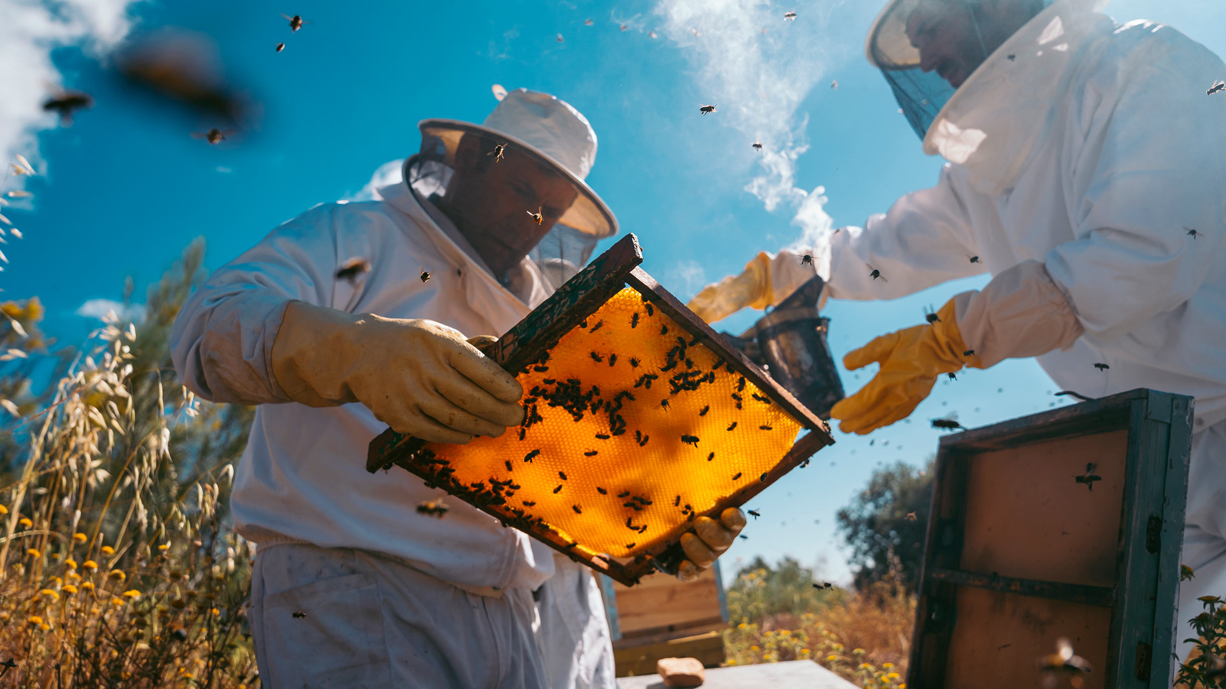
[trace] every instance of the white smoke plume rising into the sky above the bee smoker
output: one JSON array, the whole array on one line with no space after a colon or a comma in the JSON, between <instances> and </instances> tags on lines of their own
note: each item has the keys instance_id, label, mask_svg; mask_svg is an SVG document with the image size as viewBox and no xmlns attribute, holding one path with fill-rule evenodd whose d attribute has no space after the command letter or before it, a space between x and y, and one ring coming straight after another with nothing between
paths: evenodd
<instances>
[{"instance_id":1,"label":"white smoke plume rising into the sky above the bee smoker","mask_svg":"<svg viewBox=\"0 0 1226 689\"><path fill-rule=\"evenodd\" d=\"M767 212L799 207L793 224L807 237L829 229L825 197L796 186L796 161L808 151L808 116L798 113L814 86L824 82L832 60L832 39L823 21L841 0L817 0L780 7L761 0L660 0L661 32L691 51L698 85L720 118L748 139L760 141L758 174L745 191ZM794 22L783 13L797 12ZM765 29L765 31L764 31Z\"/></svg>"}]
</instances>

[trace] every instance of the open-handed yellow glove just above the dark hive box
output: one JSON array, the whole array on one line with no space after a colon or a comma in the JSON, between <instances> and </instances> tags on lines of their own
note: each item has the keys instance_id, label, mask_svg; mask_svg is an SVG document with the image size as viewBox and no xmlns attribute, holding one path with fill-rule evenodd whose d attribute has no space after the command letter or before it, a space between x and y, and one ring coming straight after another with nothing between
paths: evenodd
<instances>
[{"instance_id":1,"label":"open-handed yellow glove just above the dark hive box","mask_svg":"<svg viewBox=\"0 0 1226 689\"><path fill-rule=\"evenodd\" d=\"M959 371L964 365L983 368L977 356L965 353L953 299L937 311L937 318L940 320L883 335L843 357L848 370L873 362L881 368L859 392L830 411L840 419L840 430L864 435L902 421L932 392L938 375Z\"/></svg>"}]
</instances>

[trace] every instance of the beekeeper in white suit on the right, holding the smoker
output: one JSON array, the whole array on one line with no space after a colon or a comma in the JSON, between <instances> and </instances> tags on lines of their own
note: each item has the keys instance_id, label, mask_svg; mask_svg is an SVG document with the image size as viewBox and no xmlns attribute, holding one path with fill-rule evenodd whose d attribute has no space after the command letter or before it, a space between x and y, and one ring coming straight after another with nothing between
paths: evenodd
<instances>
[{"instance_id":1,"label":"beekeeper in white suit on the right, holding the smoker","mask_svg":"<svg viewBox=\"0 0 1226 689\"><path fill-rule=\"evenodd\" d=\"M1226 65L1170 27L1121 26L1101 9L891 1L868 58L924 152L948 161L937 186L819 246L760 254L690 308L718 320L771 305L814 270L841 299L991 273L939 322L847 354L847 368L880 369L835 406L845 432L905 418L940 374L1014 357L1037 357L1083 395L1194 396L1182 559L1195 577L1181 587L1183 640L1197 597L1226 595L1226 94L1206 94Z\"/></svg>"}]
</instances>

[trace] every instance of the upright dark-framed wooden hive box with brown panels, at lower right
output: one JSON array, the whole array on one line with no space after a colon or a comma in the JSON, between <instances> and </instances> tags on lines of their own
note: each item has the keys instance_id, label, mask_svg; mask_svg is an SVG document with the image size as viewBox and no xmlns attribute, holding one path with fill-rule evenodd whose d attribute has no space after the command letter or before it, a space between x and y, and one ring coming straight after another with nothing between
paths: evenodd
<instances>
[{"instance_id":1,"label":"upright dark-framed wooden hive box with brown panels, at lower right","mask_svg":"<svg viewBox=\"0 0 1226 689\"><path fill-rule=\"evenodd\" d=\"M907 685L1037 689L1063 636L1084 689L1168 688L1190 443L1152 390L942 438Z\"/></svg>"}]
</instances>

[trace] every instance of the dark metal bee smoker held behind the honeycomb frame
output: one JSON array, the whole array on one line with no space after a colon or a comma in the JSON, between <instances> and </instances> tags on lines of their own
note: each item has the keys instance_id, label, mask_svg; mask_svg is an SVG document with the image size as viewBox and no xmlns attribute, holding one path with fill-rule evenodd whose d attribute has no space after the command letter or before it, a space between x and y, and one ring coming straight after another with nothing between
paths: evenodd
<instances>
[{"instance_id":1,"label":"dark metal bee smoker held behind the honeycomb frame","mask_svg":"<svg viewBox=\"0 0 1226 689\"><path fill-rule=\"evenodd\" d=\"M721 335L802 405L829 421L843 389L826 343L830 319L818 313L823 288L821 276L813 276L745 332Z\"/></svg>"}]
</instances>

